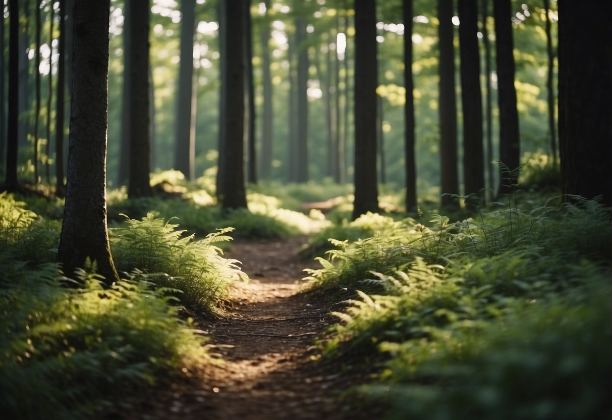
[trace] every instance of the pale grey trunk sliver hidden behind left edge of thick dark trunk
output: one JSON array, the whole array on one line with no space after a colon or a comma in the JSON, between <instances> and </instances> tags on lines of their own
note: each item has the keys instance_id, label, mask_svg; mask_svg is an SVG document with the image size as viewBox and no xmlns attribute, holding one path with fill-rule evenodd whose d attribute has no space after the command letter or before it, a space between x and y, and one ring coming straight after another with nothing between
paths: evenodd
<instances>
[{"instance_id":1,"label":"pale grey trunk sliver hidden behind left edge of thick dark trunk","mask_svg":"<svg viewBox=\"0 0 612 420\"><path fill-rule=\"evenodd\" d=\"M226 45L226 34L228 24L227 24L227 16L226 16L226 7L225 2L217 3L217 14L219 21L219 123L218 123L218 145L217 145L217 180L215 184L215 194L217 195L217 201L221 201L223 197L223 185L225 179L225 110L226 110L226 84L227 80L227 54L228 48Z\"/></svg>"}]
</instances>

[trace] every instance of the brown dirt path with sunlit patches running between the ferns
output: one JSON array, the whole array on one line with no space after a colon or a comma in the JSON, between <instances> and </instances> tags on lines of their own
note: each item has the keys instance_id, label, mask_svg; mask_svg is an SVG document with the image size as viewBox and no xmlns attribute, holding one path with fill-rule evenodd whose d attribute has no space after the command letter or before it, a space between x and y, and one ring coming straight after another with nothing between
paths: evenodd
<instances>
[{"instance_id":1,"label":"brown dirt path with sunlit patches running between the ferns","mask_svg":"<svg viewBox=\"0 0 612 420\"><path fill-rule=\"evenodd\" d=\"M129 418L189 419L365 419L339 398L368 379L365 372L338 362L315 361L315 339L335 319L340 303L299 293L302 269L314 261L299 256L305 238L270 242L235 241L227 258L242 261L248 283L234 285L227 314L200 320L211 334L210 364L185 382L157 389L129 410ZM338 300L341 300L338 298ZM125 412L121 418L124 418Z\"/></svg>"}]
</instances>

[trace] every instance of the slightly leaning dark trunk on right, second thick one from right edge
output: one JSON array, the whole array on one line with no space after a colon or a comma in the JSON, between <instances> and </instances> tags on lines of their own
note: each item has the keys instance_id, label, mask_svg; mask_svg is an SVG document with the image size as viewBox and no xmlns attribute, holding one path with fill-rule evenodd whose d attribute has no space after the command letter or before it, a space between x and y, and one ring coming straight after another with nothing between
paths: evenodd
<instances>
[{"instance_id":1,"label":"slightly leaning dark trunk on right, second thick one from right edge","mask_svg":"<svg viewBox=\"0 0 612 420\"><path fill-rule=\"evenodd\" d=\"M512 191L513 170L520 165L517 91L514 87L514 43L510 0L493 0L499 103L499 194Z\"/></svg>"}]
</instances>

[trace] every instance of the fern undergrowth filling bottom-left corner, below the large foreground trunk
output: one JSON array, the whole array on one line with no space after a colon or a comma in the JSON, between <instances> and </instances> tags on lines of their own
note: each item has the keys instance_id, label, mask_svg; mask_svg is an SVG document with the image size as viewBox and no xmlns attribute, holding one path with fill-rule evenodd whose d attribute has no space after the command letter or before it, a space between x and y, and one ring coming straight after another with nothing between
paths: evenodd
<instances>
[{"instance_id":1,"label":"fern undergrowth filling bottom-left corner, below the large foreground trunk","mask_svg":"<svg viewBox=\"0 0 612 420\"><path fill-rule=\"evenodd\" d=\"M54 264L31 271L7 251L0 271L6 418L91 418L125 392L208 360L192 321L144 274L103 288L95 274L59 279Z\"/></svg>"}]
</instances>

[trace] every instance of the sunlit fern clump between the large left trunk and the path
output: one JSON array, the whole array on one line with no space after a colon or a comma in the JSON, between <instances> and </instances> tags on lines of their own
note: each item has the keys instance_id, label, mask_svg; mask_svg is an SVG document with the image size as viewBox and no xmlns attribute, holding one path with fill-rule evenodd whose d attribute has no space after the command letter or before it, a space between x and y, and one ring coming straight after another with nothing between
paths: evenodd
<instances>
[{"instance_id":1,"label":"sunlit fern clump between the large left trunk and the path","mask_svg":"<svg viewBox=\"0 0 612 420\"><path fill-rule=\"evenodd\" d=\"M113 260L119 270L146 270L159 287L181 292L184 306L214 310L226 287L239 279L248 280L237 266L239 261L222 257L215 244L229 241L232 228L208 234L194 241L194 234L182 237L185 230L151 213L142 220L125 216L124 227L110 230Z\"/></svg>"}]
</instances>

